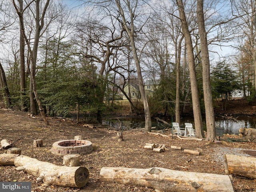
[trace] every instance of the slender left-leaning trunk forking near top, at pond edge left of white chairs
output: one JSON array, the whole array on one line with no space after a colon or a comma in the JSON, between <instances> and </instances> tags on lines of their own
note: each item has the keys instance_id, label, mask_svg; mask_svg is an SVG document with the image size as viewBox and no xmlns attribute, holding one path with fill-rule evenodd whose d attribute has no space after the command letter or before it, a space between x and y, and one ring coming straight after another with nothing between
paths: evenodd
<instances>
[{"instance_id":1,"label":"slender left-leaning trunk forking near top, at pond edge left of white chairs","mask_svg":"<svg viewBox=\"0 0 256 192\"><path fill-rule=\"evenodd\" d=\"M142 73L141 73L141 68L140 68L140 60L138 58L138 54L137 54L137 50L136 50L136 45L135 45L135 41L134 41L134 11L136 10L136 7L134 8L134 10L132 10L132 7L130 6L130 0L126 0L126 6L129 9L129 13L130 13L130 22L129 22L129 26L127 25L127 20L124 14L124 11L122 9L120 0L116 0L116 6L118 7L118 10L120 12L120 15L122 17L122 26L124 27L124 29L126 30L130 42L131 42L131 47L132 47L132 53L134 56L134 62L137 68L137 74L138 74L138 84L139 84L139 88L140 88L140 96L143 102L143 106L144 106L144 114L145 114L145 128L144 131L145 132L151 132L151 116L150 116L150 108L148 105L148 100L146 97L146 92L144 89L144 82L142 79Z\"/></svg>"}]
</instances>

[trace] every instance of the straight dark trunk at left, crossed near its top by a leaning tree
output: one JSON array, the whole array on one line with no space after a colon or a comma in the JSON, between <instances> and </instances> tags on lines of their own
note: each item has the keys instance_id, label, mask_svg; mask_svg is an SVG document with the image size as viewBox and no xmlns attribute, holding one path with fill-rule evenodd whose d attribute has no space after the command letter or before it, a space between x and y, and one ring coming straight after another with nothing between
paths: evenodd
<instances>
[{"instance_id":1,"label":"straight dark trunk at left, crossed near its top by a leaning tree","mask_svg":"<svg viewBox=\"0 0 256 192\"><path fill-rule=\"evenodd\" d=\"M20 12L22 12L23 0L19 0L19 6L20 6ZM22 33L22 26L20 24L20 100L21 100L22 111L28 111L25 96L26 96L25 41Z\"/></svg>"}]
</instances>

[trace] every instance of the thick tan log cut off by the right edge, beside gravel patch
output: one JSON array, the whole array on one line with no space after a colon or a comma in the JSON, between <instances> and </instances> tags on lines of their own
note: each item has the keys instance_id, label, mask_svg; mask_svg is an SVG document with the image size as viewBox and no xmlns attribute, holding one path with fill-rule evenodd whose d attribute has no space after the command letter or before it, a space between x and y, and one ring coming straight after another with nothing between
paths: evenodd
<instances>
[{"instance_id":1,"label":"thick tan log cut off by the right edge, beside gravel patch","mask_svg":"<svg viewBox=\"0 0 256 192\"><path fill-rule=\"evenodd\" d=\"M256 179L256 158L247 156L224 155L226 174L236 174Z\"/></svg>"}]
</instances>

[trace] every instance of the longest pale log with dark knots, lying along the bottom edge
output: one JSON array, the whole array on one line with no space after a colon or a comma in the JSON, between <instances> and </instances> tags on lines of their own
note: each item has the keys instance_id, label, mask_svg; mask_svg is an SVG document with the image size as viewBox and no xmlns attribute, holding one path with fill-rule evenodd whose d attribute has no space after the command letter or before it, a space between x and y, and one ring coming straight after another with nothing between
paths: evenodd
<instances>
[{"instance_id":1,"label":"longest pale log with dark knots, lying along the bottom edge","mask_svg":"<svg viewBox=\"0 0 256 192\"><path fill-rule=\"evenodd\" d=\"M165 168L103 167L100 181L148 186L168 192L234 192L228 175L182 172Z\"/></svg>"}]
</instances>

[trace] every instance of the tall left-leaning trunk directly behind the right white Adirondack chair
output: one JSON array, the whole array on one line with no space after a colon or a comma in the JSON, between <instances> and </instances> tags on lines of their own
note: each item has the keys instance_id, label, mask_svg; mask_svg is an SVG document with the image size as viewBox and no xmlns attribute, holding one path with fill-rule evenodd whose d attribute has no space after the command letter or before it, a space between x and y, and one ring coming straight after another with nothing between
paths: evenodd
<instances>
[{"instance_id":1,"label":"tall left-leaning trunk directly behind the right white Adirondack chair","mask_svg":"<svg viewBox=\"0 0 256 192\"><path fill-rule=\"evenodd\" d=\"M176 2L178 4L180 20L182 24L182 32L186 40L186 46L187 46L187 52L188 52L188 65L189 65L190 86L191 86L191 93L192 93L192 105L193 105L196 137L204 138L204 132L203 132L204 130L203 130L202 115L201 115L200 101L199 101L199 95L198 95L198 86L197 86L197 80L196 80L196 67L194 63L192 39L190 36L190 32L188 30L188 23L187 23L186 15L184 12L183 2L182 0L176 0Z\"/></svg>"}]
</instances>

